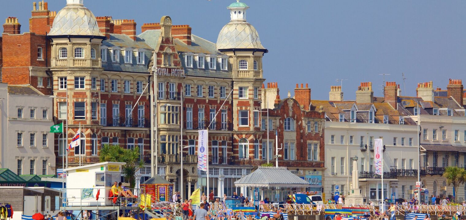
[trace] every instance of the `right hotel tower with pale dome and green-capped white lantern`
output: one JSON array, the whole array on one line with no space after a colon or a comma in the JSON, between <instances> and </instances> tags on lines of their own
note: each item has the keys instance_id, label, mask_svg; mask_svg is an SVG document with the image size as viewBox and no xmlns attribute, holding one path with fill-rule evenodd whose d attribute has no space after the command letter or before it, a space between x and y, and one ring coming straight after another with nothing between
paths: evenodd
<instances>
[{"instance_id":1,"label":"right hotel tower with pale dome and green-capped white lantern","mask_svg":"<svg viewBox=\"0 0 466 220\"><path fill-rule=\"evenodd\" d=\"M227 9L230 22L217 38L217 49L229 56L233 74L233 154L253 157L254 143L260 140L262 56L267 53L254 26L246 21L249 7L237 0ZM272 106L273 107L273 106ZM249 153L251 152L251 153Z\"/></svg>"}]
</instances>

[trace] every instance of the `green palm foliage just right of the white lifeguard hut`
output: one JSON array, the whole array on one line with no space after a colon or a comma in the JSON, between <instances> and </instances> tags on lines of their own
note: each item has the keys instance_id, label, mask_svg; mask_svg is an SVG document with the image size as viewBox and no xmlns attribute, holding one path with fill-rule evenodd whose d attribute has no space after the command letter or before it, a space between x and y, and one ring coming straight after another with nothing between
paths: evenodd
<instances>
[{"instance_id":1,"label":"green palm foliage just right of the white lifeguard hut","mask_svg":"<svg viewBox=\"0 0 466 220\"><path fill-rule=\"evenodd\" d=\"M124 149L118 145L105 144L100 148L100 162L124 162L126 165L122 167L122 174L126 181L130 183L130 188L136 185L136 173L144 166L144 161L141 160L139 147L133 150Z\"/></svg>"}]
</instances>

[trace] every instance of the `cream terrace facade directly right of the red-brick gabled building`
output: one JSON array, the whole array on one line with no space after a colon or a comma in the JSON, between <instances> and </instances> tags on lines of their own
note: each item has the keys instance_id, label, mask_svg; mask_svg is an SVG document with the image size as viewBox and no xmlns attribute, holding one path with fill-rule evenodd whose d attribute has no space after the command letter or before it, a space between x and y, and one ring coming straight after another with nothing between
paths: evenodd
<instances>
[{"instance_id":1,"label":"cream terrace facade directly right of the red-brick gabled building","mask_svg":"<svg viewBox=\"0 0 466 220\"><path fill-rule=\"evenodd\" d=\"M412 195L408 191L415 187L417 181L417 129L416 125L406 124L325 122L327 169L324 172L323 186L326 199L335 192L335 185L339 186L341 194L348 195L348 187L352 186L351 158L357 156L359 186L362 189L364 203L370 200L377 201L377 197L381 194L381 179L373 179L374 152L370 150L370 144L374 143L374 138L380 137L383 138L383 144L386 146L383 153L384 172L392 173L390 178L384 179L384 197L395 193L397 199L411 198ZM394 137L397 138L396 145L394 145ZM403 143L402 138L404 138ZM397 164L394 164L395 162ZM397 166L397 172L394 172L393 166Z\"/></svg>"}]
</instances>

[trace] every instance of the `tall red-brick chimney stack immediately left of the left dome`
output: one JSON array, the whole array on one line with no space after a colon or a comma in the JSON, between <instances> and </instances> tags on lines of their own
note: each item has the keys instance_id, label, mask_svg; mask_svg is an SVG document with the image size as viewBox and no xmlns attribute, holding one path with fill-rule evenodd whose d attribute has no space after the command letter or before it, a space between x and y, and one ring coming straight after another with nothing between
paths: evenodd
<instances>
[{"instance_id":1,"label":"tall red-brick chimney stack immediately left of the left dome","mask_svg":"<svg viewBox=\"0 0 466 220\"><path fill-rule=\"evenodd\" d=\"M33 2L33 10L31 11L31 14L32 16L29 19L29 32L44 35L50 32L52 22L50 22L50 11L48 10L48 2L42 0L39 1L38 5L36 5L36 3Z\"/></svg>"}]
</instances>

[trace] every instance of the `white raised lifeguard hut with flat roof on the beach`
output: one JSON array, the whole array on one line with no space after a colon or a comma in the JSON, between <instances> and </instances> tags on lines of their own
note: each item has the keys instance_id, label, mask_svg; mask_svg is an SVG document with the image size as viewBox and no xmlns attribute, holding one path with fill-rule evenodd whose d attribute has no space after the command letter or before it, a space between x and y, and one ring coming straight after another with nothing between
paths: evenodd
<instances>
[{"instance_id":1,"label":"white raised lifeguard hut with flat roof on the beach","mask_svg":"<svg viewBox=\"0 0 466 220\"><path fill-rule=\"evenodd\" d=\"M63 190L67 206L110 206L109 191L114 182L121 181L121 167L126 163L103 162L65 169L66 186ZM100 190L99 199L96 199Z\"/></svg>"}]
</instances>

